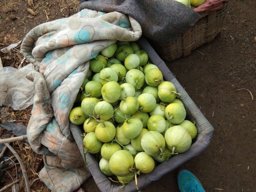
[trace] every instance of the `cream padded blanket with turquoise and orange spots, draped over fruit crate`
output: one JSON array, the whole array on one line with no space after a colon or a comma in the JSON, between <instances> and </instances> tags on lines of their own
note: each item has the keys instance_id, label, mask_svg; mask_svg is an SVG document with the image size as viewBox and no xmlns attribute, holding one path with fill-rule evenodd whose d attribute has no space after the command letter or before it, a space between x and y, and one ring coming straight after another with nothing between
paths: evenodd
<instances>
[{"instance_id":1,"label":"cream padded blanket with turquoise and orange spots, draped over fruit crate","mask_svg":"<svg viewBox=\"0 0 256 192\"><path fill-rule=\"evenodd\" d=\"M24 38L21 52L36 69L27 75L36 92L28 141L44 155L39 177L52 191L74 191L90 176L69 129L69 112L89 60L117 40L136 41L141 34L139 23L127 15L84 9L43 23Z\"/></svg>"}]
</instances>

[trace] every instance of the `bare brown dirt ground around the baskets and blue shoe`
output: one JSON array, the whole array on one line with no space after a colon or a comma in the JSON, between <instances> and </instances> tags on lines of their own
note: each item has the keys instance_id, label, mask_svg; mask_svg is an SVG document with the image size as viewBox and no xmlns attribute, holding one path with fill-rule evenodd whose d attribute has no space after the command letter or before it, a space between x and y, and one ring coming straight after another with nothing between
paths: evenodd
<instances>
[{"instance_id":1,"label":"bare brown dirt ground around the baskets and blue shoe","mask_svg":"<svg viewBox=\"0 0 256 192\"><path fill-rule=\"evenodd\" d=\"M78 10L76 0L0 2L0 48L16 43L40 23L67 17ZM256 1L232 0L219 36L191 55L166 62L180 84L213 125L210 146L199 156L154 181L141 191L177 192L177 172L195 173L208 192L255 191L256 188ZM17 48L18 49L18 48ZM0 53L5 66L17 67ZM252 96L250 95L250 92ZM252 97L253 100L252 100ZM93 178L86 192L99 192ZM39 191L39 190L36 190Z\"/></svg>"}]
</instances>

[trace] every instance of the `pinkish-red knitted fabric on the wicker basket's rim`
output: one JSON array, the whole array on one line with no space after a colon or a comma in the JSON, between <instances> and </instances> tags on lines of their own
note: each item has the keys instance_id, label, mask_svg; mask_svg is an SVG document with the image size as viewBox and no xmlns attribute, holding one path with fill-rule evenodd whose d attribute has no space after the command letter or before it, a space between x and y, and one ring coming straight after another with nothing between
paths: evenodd
<instances>
[{"instance_id":1,"label":"pinkish-red knitted fabric on the wicker basket's rim","mask_svg":"<svg viewBox=\"0 0 256 192\"><path fill-rule=\"evenodd\" d=\"M229 1L229 0L206 0L204 4L194 8L194 11L196 12L214 11L216 9L221 8L223 6L224 1Z\"/></svg>"}]
</instances>

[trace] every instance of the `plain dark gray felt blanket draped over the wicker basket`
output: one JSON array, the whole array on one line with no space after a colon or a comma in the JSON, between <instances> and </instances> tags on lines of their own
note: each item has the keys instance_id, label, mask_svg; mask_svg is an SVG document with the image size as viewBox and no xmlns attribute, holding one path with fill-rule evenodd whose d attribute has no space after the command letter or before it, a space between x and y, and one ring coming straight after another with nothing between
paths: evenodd
<instances>
[{"instance_id":1,"label":"plain dark gray felt blanket draped over the wicker basket","mask_svg":"<svg viewBox=\"0 0 256 192\"><path fill-rule=\"evenodd\" d=\"M101 12L121 12L140 23L143 36L158 44L175 41L195 25L200 15L193 9L173 0L88 0L82 9Z\"/></svg>"}]
</instances>

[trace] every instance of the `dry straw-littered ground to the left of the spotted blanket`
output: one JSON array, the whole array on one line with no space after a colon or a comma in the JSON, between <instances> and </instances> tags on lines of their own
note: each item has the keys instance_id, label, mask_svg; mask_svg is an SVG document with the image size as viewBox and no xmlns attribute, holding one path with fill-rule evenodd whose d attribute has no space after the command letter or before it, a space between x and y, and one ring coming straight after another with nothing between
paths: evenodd
<instances>
[{"instance_id":1,"label":"dry straw-littered ground to the left of the spotted blanket","mask_svg":"<svg viewBox=\"0 0 256 192\"><path fill-rule=\"evenodd\" d=\"M25 7L24 4L26 4ZM21 41L24 38L24 36L29 32L29 30L36 27L36 25L51 20L69 17L75 14L78 10L79 4L80 2L78 0L1 1L0 7L2 8L2 10L0 10L0 14L2 14L3 17L0 18L0 49L7 47L10 44ZM35 15L28 12L28 8L30 8L35 13ZM20 52L20 45L4 53L0 51L0 57L4 67L11 66L14 68L18 68L20 62L24 58ZM27 64L28 61L25 60L22 64L22 67ZM4 108L6 113L9 115L7 118L4 119L4 121L12 119L14 121L19 122L20 124L25 124L26 126L28 125L28 121L31 116L32 106L29 106L24 110L13 110L11 107L5 106L0 108ZM3 119L1 123L4 123ZM2 137L3 135L13 136L10 132L0 127L0 137ZM38 172L41 169L40 167L38 169L38 166L42 161L42 155L36 154L31 149L29 144L26 143L25 141L17 141L11 143L11 146L22 159L22 162L28 173L31 191L51 191L44 185L44 183L38 177ZM3 186L12 183L13 180L15 181L17 179L20 179L18 191L27 191L17 159L15 158L15 156L12 155L12 153L8 149L5 151L4 156L11 158L12 161L16 164L16 167L11 160L7 159L9 164L5 169L6 171L4 171L4 177L2 180ZM12 188L8 188L5 191L12 191Z\"/></svg>"}]
</instances>

